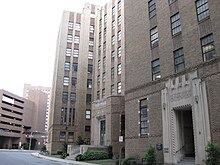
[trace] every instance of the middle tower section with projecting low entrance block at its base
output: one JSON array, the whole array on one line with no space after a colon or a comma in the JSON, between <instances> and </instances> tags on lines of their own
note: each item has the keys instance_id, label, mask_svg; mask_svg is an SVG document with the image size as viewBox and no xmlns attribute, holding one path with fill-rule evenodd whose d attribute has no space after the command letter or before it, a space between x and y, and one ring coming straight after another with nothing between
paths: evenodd
<instances>
[{"instance_id":1,"label":"middle tower section with projecting low entrance block at its base","mask_svg":"<svg viewBox=\"0 0 220 165\"><path fill-rule=\"evenodd\" d=\"M112 0L96 15L91 143L124 151L124 2ZM120 137L120 142L119 142Z\"/></svg>"}]
</instances>

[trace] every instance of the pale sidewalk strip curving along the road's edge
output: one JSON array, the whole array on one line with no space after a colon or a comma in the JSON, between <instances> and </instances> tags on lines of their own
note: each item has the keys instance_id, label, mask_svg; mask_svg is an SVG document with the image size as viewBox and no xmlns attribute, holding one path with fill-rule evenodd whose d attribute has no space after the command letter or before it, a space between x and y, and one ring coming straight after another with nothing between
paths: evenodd
<instances>
[{"instance_id":1,"label":"pale sidewalk strip curving along the road's edge","mask_svg":"<svg viewBox=\"0 0 220 165\"><path fill-rule=\"evenodd\" d=\"M53 158L53 157L41 155L39 153L32 153L31 155L35 156L35 157L38 157L38 158L52 160L52 161L55 161L55 162L63 162L63 163L74 164L74 165L97 165L97 164L79 162L79 161L74 161L74 160L66 160L66 159Z\"/></svg>"}]
</instances>

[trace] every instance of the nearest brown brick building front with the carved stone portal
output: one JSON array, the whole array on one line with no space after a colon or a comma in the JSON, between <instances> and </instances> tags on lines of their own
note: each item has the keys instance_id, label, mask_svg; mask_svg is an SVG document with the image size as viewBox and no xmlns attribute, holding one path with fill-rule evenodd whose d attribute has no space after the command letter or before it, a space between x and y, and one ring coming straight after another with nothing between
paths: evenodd
<instances>
[{"instance_id":1,"label":"nearest brown brick building front with the carved stone portal","mask_svg":"<svg viewBox=\"0 0 220 165\"><path fill-rule=\"evenodd\" d=\"M125 0L125 151L159 162L220 143L220 1Z\"/></svg>"}]
</instances>

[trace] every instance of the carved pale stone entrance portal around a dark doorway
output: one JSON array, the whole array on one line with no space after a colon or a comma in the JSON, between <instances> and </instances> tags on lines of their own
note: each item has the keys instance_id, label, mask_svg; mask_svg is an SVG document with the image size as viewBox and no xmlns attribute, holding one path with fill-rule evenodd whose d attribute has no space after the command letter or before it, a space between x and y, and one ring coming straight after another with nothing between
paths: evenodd
<instances>
[{"instance_id":1,"label":"carved pale stone entrance portal around a dark doorway","mask_svg":"<svg viewBox=\"0 0 220 165\"><path fill-rule=\"evenodd\" d=\"M195 157L203 165L210 126L205 83L197 72L169 79L161 93L164 162Z\"/></svg>"}]
</instances>

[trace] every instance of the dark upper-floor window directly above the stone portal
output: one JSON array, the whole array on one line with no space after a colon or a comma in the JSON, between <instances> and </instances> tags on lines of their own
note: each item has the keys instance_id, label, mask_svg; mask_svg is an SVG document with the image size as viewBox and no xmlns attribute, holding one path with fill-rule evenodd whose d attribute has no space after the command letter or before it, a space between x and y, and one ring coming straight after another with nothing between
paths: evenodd
<instances>
[{"instance_id":1,"label":"dark upper-floor window directly above the stone portal","mask_svg":"<svg viewBox=\"0 0 220 165\"><path fill-rule=\"evenodd\" d=\"M183 48L174 51L175 72L180 72L185 68Z\"/></svg>"}]
</instances>

